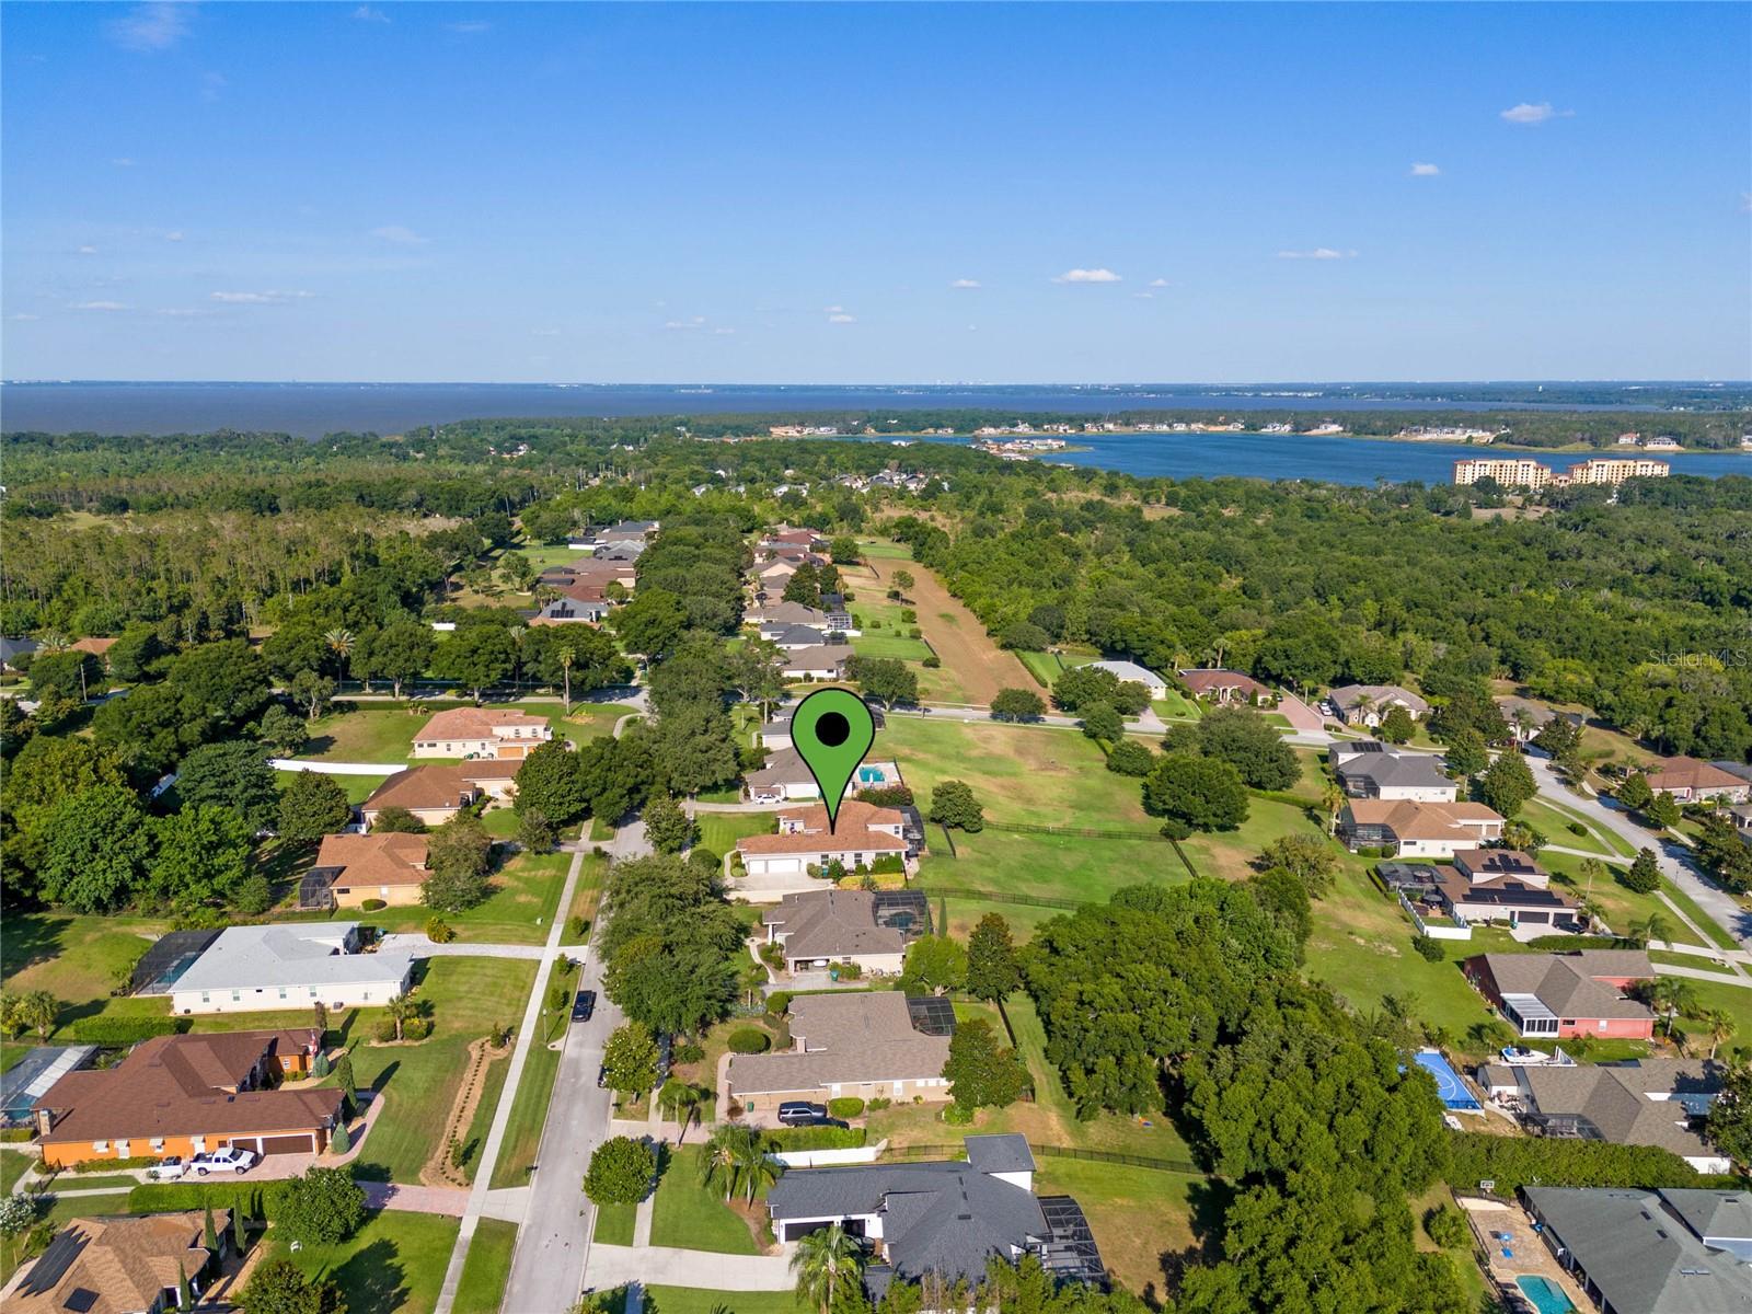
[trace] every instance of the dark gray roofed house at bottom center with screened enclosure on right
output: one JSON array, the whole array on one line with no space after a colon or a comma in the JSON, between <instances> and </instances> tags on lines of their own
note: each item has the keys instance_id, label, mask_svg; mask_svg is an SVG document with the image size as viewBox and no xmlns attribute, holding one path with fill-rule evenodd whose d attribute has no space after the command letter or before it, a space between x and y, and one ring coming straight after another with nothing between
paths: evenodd
<instances>
[{"instance_id":1,"label":"dark gray roofed house at bottom center with screened enclosure on right","mask_svg":"<svg viewBox=\"0 0 1752 1314\"><path fill-rule=\"evenodd\" d=\"M767 1191L780 1240L832 1223L864 1237L878 1263L872 1296L890 1279L937 1274L978 1282L993 1254L1037 1254L1065 1281L1100 1282L1106 1270L1070 1197L1034 1195L1034 1155L1020 1135L967 1137L965 1163L872 1163L787 1172Z\"/></svg>"}]
</instances>

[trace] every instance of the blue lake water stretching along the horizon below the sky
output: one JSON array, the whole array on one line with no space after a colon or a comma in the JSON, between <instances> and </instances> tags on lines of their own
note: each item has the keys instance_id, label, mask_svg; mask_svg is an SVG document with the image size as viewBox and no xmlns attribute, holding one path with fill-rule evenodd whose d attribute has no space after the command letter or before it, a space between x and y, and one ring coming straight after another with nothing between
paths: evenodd
<instances>
[{"instance_id":1,"label":"blue lake water stretching along the horizon below the sky","mask_svg":"<svg viewBox=\"0 0 1752 1314\"><path fill-rule=\"evenodd\" d=\"M543 384L5 384L0 427L49 433L203 433L240 429L294 433L403 433L422 424L484 417L566 415L706 415L844 410L883 406L934 410L957 406L1014 412L1102 415L1116 410L1545 410L1508 403L1447 399L1375 399L1300 396L1295 392L1225 392L1176 387L825 387L825 385L543 385ZM1558 405L1552 410L1656 410L1652 406ZM1442 443L1391 443L1365 438L1295 434L1186 433L1090 434L1088 452L1058 461L1130 475L1244 475L1312 478L1333 484L1375 480L1445 482L1458 456L1479 449ZM1575 456L1544 456L1563 466ZM1741 454L1668 456L1687 475L1752 475Z\"/></svg>"}]
</instances>

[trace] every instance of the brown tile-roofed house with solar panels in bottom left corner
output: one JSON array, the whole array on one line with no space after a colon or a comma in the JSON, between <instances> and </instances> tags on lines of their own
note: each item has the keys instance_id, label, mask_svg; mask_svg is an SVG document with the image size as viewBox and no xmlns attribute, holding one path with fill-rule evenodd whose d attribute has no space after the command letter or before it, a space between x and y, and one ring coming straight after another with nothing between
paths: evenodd
<instances>
[{"instance_id":1,"label":"brown tile-roofed house with solar panels in bottom left corner","mask_svg":"<svg viewBox=\"0 0 1752 1314\"><path fill-rule=\"evenodd\" d=\"M231 1211L214 1211L224 1253ZM70 1218L35 1263L0 1293L7 1314L161 1314L177 1307L184 1277L198 1293L207 1268L207 1214Z\"/></svg>"}]
</instances>

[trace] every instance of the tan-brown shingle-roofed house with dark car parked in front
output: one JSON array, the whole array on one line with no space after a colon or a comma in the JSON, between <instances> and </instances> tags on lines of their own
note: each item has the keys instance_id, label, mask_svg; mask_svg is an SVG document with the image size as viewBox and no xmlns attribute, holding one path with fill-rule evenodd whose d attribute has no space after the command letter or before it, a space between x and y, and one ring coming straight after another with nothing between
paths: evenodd
<instances>
[{"instance_id":1,"label":"tan-brown shingle-roofed house with dark car parked in front","mask_svg":"<svg viewBox=\"0 0 1752 1314\"><path fill-rule=\"evenodd\" d=\"M955 1014L939 1025L944 1011L927 1013L932 1002L909 1000L899 990L797 995L790 1002L792 1048L732 1055L731 1099L753 1114L778 1111L785 1100L946 1100L943 1065Z\"/></svg>"}]
</instances>

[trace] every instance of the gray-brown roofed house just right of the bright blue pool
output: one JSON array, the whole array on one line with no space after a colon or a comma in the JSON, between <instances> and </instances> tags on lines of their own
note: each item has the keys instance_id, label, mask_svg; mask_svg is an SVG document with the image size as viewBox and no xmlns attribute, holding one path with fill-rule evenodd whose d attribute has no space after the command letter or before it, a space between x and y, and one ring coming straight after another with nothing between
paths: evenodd
<instances>
[{"instance_id":1,"label":"gray-brown roofed house just right of the bright blue pool","mask_svg":"<svg viewBox=\"0 0 1752 1314\"><path fill-rule=\"evenodd\" d=\"M1692 1130L1722 1088L1722 1065L1703 1058L1640 1058L1575 1067L1489 1063L1480 1081L1514 1086L1526 1120L1545 1135L1661 1146L1699 1172L1727 1172L1727 1158Z\"/></svg>"}]
</instances>

